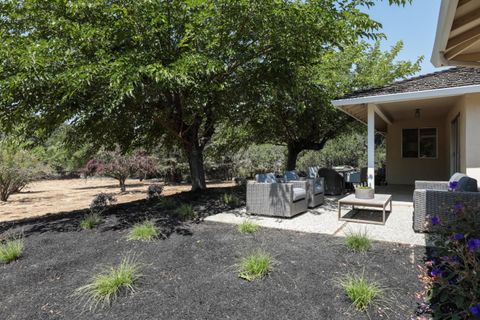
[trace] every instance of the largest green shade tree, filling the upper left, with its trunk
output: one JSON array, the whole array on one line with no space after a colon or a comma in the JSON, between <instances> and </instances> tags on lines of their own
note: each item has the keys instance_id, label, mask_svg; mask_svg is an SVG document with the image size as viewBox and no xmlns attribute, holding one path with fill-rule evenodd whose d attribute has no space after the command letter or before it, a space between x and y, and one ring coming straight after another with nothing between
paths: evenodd
<instances>
[{"instance_id":1,"label":"largest green shade tree, filling the upper left, with its trunk","mask_svg":"<svg viewBox=\"0 0 480 320\"><path fill-rule=\"evenodd\" d=\"M69 123L72 142L123 150L164 137L204 189L203 149L229 108L259 79L281 82L324 50L375 38L380 24L359 10L373 4L4 0L0 126L48 135Z\"/></svg>"}]
</instances>

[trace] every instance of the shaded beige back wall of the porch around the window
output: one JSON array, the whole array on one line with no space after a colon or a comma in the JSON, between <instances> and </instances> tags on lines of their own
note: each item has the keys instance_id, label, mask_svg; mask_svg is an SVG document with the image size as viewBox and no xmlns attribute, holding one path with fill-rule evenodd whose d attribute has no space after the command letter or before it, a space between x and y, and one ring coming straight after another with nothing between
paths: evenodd
<instances>
[{"instance_id":1,"label":"shaded beige back wall of the porch around the window","mask_svg":"<svg viewBox=\"0 0 480 320\"><path fill-rule=\"evenodd\" d=\"M402 158L402 129L437 128L438 157L436 159ZM387 182L389 184L413 184L415 180L447 180L449 177L449 131L445 116L438 118L412 118L395 121L387 132Z\"/></svg>"}]
</instances>

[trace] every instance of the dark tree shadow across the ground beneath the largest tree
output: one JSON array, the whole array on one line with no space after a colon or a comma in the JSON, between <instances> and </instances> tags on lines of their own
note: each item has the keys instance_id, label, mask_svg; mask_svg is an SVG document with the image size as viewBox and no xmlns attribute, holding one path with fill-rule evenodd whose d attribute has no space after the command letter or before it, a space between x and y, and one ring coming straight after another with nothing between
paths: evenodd
<instances>
[{"instance_id":1,"label":"dark tree shadow across the ground beneath the largest tree","mask_svg":"<svg viewBox=\"0 0 480 320\"><path fill-rule=\"evenodd\" d=\"M238 207L245 204L245 188L242 187L181 192L165 198L173 200L176 207L182 204L191 205L197 214L197 218L193 221L182 222L176 215L176 207L167 209L162 206L161 201L137 200L108 208L102 213L103 222L97 229L100 232L121 231L129 229L138 222L151 220L165 238L173 233L191 235L189 229L191 223L200 223L207 216L234 208L223 202L224 194L235 194L240 199ZM88 209L83 209L3 222L0 223L0 235L22 233L23 236L28 237L32 234L48 232L79 232L82 230L80 221L89 212Z\"/></svg>"}]
</instances>

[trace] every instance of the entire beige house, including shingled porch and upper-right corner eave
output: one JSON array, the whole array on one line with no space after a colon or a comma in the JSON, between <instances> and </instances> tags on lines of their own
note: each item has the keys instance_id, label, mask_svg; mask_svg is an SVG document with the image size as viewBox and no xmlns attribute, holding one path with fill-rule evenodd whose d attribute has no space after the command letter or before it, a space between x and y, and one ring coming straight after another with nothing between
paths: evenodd
<instances>
[{"instance_id":1,"label":"entire beige house, including shingled porch and upper-right corner eave","mask_svg":"<svg viewBox=\"0 0 480 320\"><path fill-rule=\"evenodd\" d=\"M368 125L371 186L376 132L387 138L390 184L447 180L454 172L480 181L480 0L442 0L431 61L457 68L333 101Z\"/></svg>"}]
</instances>

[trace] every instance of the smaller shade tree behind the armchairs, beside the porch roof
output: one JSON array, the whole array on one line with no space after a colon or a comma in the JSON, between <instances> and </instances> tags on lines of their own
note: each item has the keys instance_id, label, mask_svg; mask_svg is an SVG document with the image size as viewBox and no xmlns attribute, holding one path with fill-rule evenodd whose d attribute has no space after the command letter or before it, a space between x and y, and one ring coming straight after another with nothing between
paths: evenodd
<instances>
[{"instance_id":1,"label":"smaller shade tree behind the armchairs, beside the porch roof","mask_svg":"<svg viewBox=\"0 0 480 320\"><path fill-rule=\"evenodd\" d=\"M332 99L385 85L420 70L422 57L413 62L397 60L402 47L399 42L382 51L380 42L347 44L341 50L322 52L308 68L291 69L282 82L258 84L257 103L230 118L235 138L240 136L240 143L254 140L285 145L286 169L294 170L302 151L321 150L329 140L357 127L352 126L352 118L331 105Z\"/></svg>"}]
</instances>

